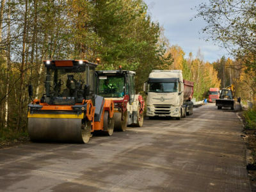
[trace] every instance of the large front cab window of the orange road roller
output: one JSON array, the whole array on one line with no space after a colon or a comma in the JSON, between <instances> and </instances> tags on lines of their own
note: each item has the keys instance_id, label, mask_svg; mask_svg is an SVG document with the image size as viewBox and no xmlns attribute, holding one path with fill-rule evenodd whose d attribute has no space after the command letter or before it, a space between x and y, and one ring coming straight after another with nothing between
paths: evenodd
<instances>
[{"instance_id":1,"label":"large front cab window of the orange road roller","mask_svg":"<svg viewBox=\"0 0 256 192\"><path fill-rule=\"evenodd\" d=\"M86 69L47 69L46 95L50 97L83 97Z\"/></svg>"}]
</instances>

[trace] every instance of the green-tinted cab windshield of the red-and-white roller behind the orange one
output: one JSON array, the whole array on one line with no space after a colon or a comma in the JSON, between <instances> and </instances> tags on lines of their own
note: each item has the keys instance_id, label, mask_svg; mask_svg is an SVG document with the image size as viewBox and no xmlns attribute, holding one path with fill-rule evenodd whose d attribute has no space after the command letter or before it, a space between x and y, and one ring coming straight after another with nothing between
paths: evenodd
<instances>
[{"instance_id":1,"label":"green-tinted cab windshield of the red-and-white roller behind the orange one","mask_svg":"<svg viewBox=\"0 0 256 192\"><path fill-rule=\"evenodd\" d=\"M102 97L124 97L123 76L100 76L99 95Z\"/></svg>"}]
</instances>

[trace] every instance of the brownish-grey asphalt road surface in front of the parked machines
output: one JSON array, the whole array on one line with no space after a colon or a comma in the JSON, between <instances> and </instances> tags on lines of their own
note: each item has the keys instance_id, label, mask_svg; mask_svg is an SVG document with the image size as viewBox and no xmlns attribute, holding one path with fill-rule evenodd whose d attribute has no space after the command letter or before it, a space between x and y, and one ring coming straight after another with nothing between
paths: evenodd
<instances>
[{"instance_id":1,"label":"brownish-grey asphalt road surface in front of the parked machines","mask_svg":"<svg viewBox=\"0 0 256 192\"><path fill-rule=\"evenodd\" d=\"M0 149L0 191L251 191L242 125L215 104L87 144Z\"/></svg>"}]
</instances>

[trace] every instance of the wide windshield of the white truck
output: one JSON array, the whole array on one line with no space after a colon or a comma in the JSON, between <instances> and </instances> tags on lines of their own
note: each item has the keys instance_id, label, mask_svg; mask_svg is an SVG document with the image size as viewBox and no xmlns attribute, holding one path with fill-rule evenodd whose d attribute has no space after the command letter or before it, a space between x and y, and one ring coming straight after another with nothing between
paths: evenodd
<instances>
[{"instance_id":1,"label":"wide windshield of the white truck","mask_svg":"<svg viewBox=\"0 0 256 192\"><path fill-rule=\"evenodd\" d=\"M177 83L149 83L148 92L173 93L178 92Z\"/></svg>"}]
</instances>

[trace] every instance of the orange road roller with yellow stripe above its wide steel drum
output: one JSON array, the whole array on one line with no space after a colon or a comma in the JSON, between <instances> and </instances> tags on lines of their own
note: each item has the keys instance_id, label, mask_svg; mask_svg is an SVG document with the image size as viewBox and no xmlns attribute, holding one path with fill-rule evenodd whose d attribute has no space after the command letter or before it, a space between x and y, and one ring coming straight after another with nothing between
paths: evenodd
<instances>
[{"instance_id":1,"label":"orange road roller with yellow stripe above its wide steel drum","mask_svg":"<svg viewBox=\"0 0 256 192\"><path fill-rule=\"evenodd\" d=\"M32 99L29 84L28 133L31 141L87 143L92 132L111 136L114 102L95 94L95 67L86 60L46 60L44 95Z\"/></svg>"}]
</instances>

